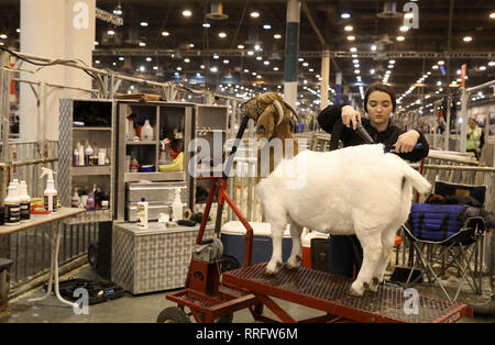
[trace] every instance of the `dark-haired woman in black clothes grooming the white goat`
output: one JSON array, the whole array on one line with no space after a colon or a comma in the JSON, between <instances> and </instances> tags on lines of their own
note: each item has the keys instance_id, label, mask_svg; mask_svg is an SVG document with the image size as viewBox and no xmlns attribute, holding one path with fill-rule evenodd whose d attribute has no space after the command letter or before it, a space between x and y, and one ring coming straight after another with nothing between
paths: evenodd
<instances>
[{"instance_id":1,"label":"dark-haired woman in black clothes grooming the white goat","mask_svg":"<svg viewBox=\"0 0 495 345\"><path fill-rule=\"evenodd\" d=\"M404 159L418 162L428 156L429 145L421 132L403 131L391 123L391 115L396 108L395 91L384 84L373 84L364 96L364 109L370 119L350 105L330 105L318 115L321 129L331 134L330 149L338 147L340 140L344 147L365 144L358 135L356 122L361 122L376 143L395 146ZM422 148L414 149L417 143ZM330 274L353 278L362 264L362 247L355 235L332 235L330 237Z\"/></svg>"}]
</instances>

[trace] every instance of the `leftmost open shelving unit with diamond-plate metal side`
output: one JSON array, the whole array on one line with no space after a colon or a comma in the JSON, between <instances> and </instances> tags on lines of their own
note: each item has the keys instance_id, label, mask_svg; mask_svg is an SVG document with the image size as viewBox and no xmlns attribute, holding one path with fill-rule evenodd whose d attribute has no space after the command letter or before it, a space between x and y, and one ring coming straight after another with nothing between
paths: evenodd
<instances>
[{"instance_id":1,"label":"leftmost open shelving unit with diamond-plate metal side","mask_svg":"<svg viewBox=\"0 0 495 345\"><path fill-rule=\"evenodd\" d=\"M59 101L59 162L55 176L58 198L69 208L77 188L92 190L96 185L109 198L109 208L88 211L72 219L70 224L113 220L114 205L114 103L98 99L61 99ZM84 122L84 126L75 126ZM109 165L74 166L76 143L88 141L94 148L106 148ZM94 145L96 143L96 147Z\"/></svg>"}]
</instances>

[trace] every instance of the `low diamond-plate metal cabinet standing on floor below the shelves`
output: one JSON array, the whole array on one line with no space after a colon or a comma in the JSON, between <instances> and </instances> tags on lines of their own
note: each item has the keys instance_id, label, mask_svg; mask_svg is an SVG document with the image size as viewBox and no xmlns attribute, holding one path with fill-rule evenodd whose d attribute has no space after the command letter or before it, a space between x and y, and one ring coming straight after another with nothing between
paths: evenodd
<instances>
[{"instance_id":1,"label":"low diamond-plate metal cabinet standing on floor below the shelves","mask_svg":"<svg viewBox=\"0 0 495 345\"><path fill-rule=\"evenodd\" d=\"M213 229L207 226L204 238L212 237ZM133 294L184 287L198 230L199 225L165 229L156 222L140 230L114 223L112 281Z\"/></svg>"}]
</instances>

